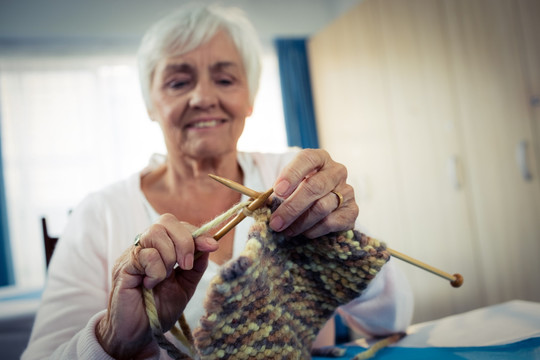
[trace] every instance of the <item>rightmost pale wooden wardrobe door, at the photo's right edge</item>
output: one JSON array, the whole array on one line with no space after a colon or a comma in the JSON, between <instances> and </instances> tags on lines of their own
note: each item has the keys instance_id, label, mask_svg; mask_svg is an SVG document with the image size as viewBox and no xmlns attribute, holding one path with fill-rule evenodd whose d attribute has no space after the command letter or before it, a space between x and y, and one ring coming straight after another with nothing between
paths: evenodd
<instances>
[{"instance_id":1,"label":"rightmost pale wooden wardrobe door, at the photo's right edge","mask_svg":"<svg viewBox=\"0 0 540 360\"><path fill-rule=\"evenodd\" d=\"M539 300L540 186L520 8L508 0L445 5L480 253L475 259L488 302Z\"/></svg>"}]
</instances>

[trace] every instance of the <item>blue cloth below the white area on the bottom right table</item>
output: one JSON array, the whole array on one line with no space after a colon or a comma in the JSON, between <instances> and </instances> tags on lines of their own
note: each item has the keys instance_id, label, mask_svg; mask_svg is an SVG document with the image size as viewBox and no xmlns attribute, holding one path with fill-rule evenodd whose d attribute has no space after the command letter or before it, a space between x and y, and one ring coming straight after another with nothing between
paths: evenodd
<instances>
[{"instance_id":1,"label":"blue cloth below the white area on the bottom right table","mask_svg":"<svg viewBox=\"0 0 540 360\"><path fill-rule=\"evenodd\" d=\"M313 359L352 359L355 355L365 351L360 346L347 346L347 353L341 358L313 357ZM428 347L405 348L387 347L379 350L373 360L538 360L540 359L540 337L522 340L519 342L479 347Z\"/></svg>"}]
</instances>

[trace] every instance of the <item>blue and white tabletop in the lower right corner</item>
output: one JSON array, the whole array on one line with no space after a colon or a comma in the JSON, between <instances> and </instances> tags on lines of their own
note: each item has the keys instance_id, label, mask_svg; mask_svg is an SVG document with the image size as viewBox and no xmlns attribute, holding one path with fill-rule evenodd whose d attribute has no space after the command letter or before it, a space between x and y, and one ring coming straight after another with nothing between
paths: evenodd
<instances>
[{"instance_id":1,"label":"blue and white tabletop in the lower right corner","mask_svg":"<svg viewBox=\"0 0 540 360\"><path fill-rule=\"evenodd\" d=\"M366 349L359 344L347 344L341 359ZM412 325L374 359L540 359L540 303L514 300Z\"/></svg>"}]
</instances>

